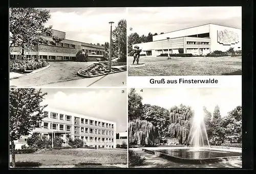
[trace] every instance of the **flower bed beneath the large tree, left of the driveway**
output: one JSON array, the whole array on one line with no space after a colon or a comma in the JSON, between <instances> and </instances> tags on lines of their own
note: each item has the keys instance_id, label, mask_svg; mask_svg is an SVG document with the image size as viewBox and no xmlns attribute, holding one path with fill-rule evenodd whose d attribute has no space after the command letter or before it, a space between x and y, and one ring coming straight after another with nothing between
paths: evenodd
<instances>
[{"instance_id":1,"label":"flower bed beneath the large tree, left of the driveway","mask_svg":"<svg viewBox=\"0 0 256 174\"><path fill-rule=\"evenodd\" d=\"M37 70L48 66L48 63L43 59L24 59L24 60L11 60L10 72L24 73L26 70Z\"/></svg>"}]
</instances>

